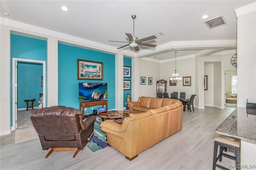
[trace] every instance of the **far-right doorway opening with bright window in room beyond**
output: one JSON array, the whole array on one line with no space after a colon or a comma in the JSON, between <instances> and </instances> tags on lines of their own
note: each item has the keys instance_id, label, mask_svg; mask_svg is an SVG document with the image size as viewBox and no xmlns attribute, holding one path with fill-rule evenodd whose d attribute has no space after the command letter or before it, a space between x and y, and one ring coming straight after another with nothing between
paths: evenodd
<instances>
[{"instance_id":1,"label":"far-right doorway opening with bright window in room beyond","mask_svg":"<svg viewBox=\"0 0 256 170\"><path fill-rule=\"evenodd\" d=\"M225 71L225 106L237 107L237 70Z\"/></svg>"}]
</instances>

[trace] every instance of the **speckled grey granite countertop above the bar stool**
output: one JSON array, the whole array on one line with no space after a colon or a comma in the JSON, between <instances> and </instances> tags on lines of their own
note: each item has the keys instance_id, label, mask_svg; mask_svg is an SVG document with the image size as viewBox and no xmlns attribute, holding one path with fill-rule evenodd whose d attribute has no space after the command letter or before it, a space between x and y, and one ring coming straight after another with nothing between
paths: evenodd
<instances>
[{"instance_id":1,"label":"speckled grey granite countertop above the bar stool","mask_svg":"<svg viewBox=\"0 0 256 170\"><path fill-rule=\"evenodd\" d=\"M226 136L256 142L256 110L236 108L216 128L216 132Z\"/></svg>"}]
</instances>

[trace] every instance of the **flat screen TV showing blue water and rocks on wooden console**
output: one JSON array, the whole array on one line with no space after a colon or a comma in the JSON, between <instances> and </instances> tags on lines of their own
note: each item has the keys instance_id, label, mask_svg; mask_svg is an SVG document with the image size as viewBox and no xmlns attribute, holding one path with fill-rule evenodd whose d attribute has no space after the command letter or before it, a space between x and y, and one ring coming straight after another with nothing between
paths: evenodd
<instances>
[{"instance_id":1,"label":"flat screen TV showing blue water and rocks on wooden console","mask_svg":"<svg viewBox=\"0 0 256 170\"><path fill-rule=\"evenodd\" d=\"M108 98L107 83L78 83L79 101Z\"/></svg>"}]
</instances>

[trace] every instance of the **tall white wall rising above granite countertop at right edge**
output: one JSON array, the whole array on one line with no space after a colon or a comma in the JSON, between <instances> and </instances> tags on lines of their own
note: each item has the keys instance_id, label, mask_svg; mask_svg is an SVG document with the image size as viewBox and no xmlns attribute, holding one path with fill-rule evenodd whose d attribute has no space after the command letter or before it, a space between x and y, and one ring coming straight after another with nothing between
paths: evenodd
<instances>
[{"instance_id":1,"label":"tall white wall rising above granite countertop at right edge","mask_svg":"<svg viewBox=\"0 0 256 170\"><path fill-rule=\"evenodd\" d=\"M254 3L255 4L255 3ZM256 11L237 16L237 106L256 103Z\"/></svg>"}]
</instances>

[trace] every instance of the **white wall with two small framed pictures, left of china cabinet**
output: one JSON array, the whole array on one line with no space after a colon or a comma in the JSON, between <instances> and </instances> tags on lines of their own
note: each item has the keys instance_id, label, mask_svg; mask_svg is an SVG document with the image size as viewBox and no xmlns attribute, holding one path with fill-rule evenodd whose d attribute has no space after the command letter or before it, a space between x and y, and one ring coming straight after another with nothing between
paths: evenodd
<instances>
[{"instance_id":1,"label":"white wall with two small framed pictures, left of china cabinet","mask_svg":"<svg viewBox=\"0 0 256 170\"><path fill-rule=\"evenodd\" d=\"M140 84L140 77L146 77L146 85ZM148 77L153 77L153 85L148 85ZM160 63L140 59L139 80L136 80L139 83L139 96L156 97L156 81L158 80L160 80Z\"/></svg>"}]
</instances>

